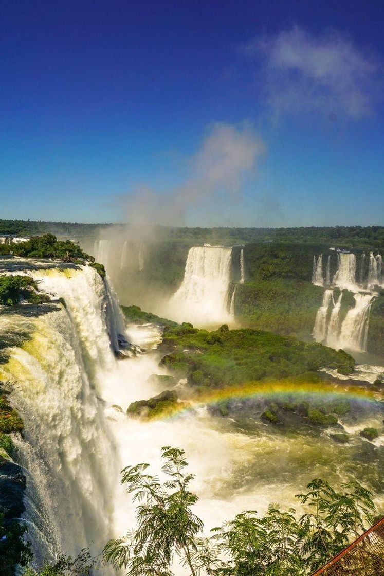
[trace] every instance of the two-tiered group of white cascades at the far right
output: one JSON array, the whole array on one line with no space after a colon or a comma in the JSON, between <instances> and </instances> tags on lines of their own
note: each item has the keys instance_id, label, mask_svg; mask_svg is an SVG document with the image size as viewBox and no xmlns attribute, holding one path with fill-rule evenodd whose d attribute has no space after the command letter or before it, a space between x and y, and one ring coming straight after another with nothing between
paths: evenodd
<instances>
[{"instance_id":1,"label":"two-tiered group of white cascades at the far right","mask_svg":"<svg viewBox=\"0 0 384 576\"><path fill-rule=\"evenodd\" d=\"M313 329L313 337L334 348L346 348L352 351L366 351L368 325L371 304L383 285L382 257L370 253L368 270L364 270L365 254L360 260L359 281L356 279L357 260L353 253L337 253L337 270L330 278L330 255L324 272L322 255L314 256L312 282L325 286L322 304L318 309ZM365 274L366 272L366 274ZM336 296L335 290L339 293ZM343 291L353 293L355 305L341 317Z\"/></svg>"}]
</instances>

